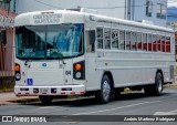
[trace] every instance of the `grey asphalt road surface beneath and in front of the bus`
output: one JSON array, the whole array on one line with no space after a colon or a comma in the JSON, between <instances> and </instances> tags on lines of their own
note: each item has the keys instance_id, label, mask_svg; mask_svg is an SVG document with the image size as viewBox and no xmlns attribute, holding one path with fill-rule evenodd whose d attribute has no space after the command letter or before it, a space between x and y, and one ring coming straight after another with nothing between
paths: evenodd
<instances>
[{"instance_id":1,"label":"grey asphalt road surface beneath and in front of the bus","mask_svg":"<svg viewBox=\"0 0 177 125\"><path fill-rule=\"evenodd\" d=\"M51 122L51 125L176 125L177 122L105 122L107 115L176 115L177 118L177 88L165 88L162 96L146 96L143 92L122 94L115 101L101 105L94 97L55 101L51 105L42 105L39 102L27 104L10 104L0 106L0 115L102 115L104 122L93 123L81 121ZM102 121L102 119L101 119ZM176 119L177 121L177 119ZM0 125L7 123L0 123ZM20 123L12 123L12 125ZM25 123L31 124L31 123ZM44 123L32 123L45 125ZM49 123L46 123L48 125Z\"/></svg>"}]
</instances>

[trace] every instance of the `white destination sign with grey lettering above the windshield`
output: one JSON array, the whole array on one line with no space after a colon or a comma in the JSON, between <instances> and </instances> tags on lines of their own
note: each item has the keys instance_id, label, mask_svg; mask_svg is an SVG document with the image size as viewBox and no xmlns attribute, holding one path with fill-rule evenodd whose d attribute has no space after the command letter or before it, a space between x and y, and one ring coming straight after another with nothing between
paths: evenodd
<instances>
[{"instance_id":1,"label":"white destination sign with grey lettering above the windshield","mask_svg":"<svg viewBox=\"0 0 177 125\"><path fill-rule=\"evenodd\" d=\"M59 23L62 14L35 14L33 15L34 24Z\"/></svg>"}]
</instances>

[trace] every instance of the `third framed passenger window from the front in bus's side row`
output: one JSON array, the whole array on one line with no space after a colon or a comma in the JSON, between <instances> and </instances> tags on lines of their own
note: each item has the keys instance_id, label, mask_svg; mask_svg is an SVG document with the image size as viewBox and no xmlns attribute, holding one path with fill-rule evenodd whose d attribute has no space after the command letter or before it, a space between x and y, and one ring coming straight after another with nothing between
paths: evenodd
<instances>
[{"instance_id":1,"label":"third framed passenger window from the front in bus's side row","mask_svg":"<svg viewBox=\"0 0 177 125\"><path fill-rule=\"evenodd\" d=\"M112 30L112 49L118 49L118 30Z\"/></svg>"}]
</instances>

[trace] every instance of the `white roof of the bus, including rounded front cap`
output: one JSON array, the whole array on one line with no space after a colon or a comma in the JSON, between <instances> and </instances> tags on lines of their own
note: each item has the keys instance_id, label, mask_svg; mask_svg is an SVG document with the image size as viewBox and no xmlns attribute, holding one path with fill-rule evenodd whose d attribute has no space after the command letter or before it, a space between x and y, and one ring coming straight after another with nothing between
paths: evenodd
<instances>
[{"instance_id":1,"label":"white roof of the bus, including rounded front cap","mask_svg":"<svg viewBox=\"0 0 177 125\"><path fill-rule=\"evenodd\" d=\"M135 22L129 20L123 20L117 18L111 18L100 14L72 11L72 10L48 10L48 11L34 11L34 12L22 13L15 18L14 25L19 27L19 25L41 25L41 24L60 24L60 23L84 23L85 18L86 20L96 22L124 24L137 28L174 32L174 30L169 28Z\"/></svg>"}]
</instances>

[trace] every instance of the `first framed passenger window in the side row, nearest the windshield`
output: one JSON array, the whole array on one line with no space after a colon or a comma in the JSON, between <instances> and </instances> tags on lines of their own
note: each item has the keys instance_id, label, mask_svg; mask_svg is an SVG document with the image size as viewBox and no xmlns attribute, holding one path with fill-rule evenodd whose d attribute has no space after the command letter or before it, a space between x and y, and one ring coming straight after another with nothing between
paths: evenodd
<instances>
[{"instance_id":1,"label":"first framed passenger window in the side row, nearest the windshield","mask_svg":"<svg viewBox=\"0 0 177 125\"><path fill-rule=\"evenodd\" d=\"M103 28L96 29L97 49L103 49Z\"/></svg>"}]
</instances>

